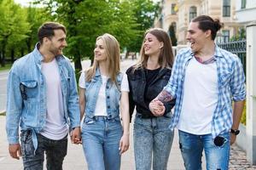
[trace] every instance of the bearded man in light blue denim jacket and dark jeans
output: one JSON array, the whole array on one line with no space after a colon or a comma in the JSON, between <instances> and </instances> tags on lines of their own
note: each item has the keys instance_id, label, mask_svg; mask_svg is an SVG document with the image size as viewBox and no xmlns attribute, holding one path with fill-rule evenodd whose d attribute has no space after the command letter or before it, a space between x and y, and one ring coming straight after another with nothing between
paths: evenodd
<instances>
[{"instance_id":1,"label":"bearded man in light blue denim jacket and dark jeans","mask_svg":"<svg viewBox=\"0 0 256 170\"><path fill-rule=\"evenodd\" d=\"M59 170L67 155L67 133L79 143L79 97L73 67L62 54L67 47L65 26L44 23L38 39L32 53L16 60L9 72L9 154L22 156L24 169L38 170L43 169L45 152L47 169Z\"/></svg>"}]
</instances>

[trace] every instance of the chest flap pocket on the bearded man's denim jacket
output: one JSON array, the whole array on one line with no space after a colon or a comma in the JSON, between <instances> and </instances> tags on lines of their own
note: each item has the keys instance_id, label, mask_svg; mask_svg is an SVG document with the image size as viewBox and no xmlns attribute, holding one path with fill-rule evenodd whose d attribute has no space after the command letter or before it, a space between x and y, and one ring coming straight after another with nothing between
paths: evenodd
<instances>
[{"instance_id":1,"label":"chest flap pocket on the bearded man's denim jacket","mask_svg":"<svg viewBox=\"0 0 256 170\"><path fill-rule=\"evenodd\" d=\"M21 81L20 93L26 98L35 98L38 95L38 82L35 80Z\"/></svg>"}]
</instances>

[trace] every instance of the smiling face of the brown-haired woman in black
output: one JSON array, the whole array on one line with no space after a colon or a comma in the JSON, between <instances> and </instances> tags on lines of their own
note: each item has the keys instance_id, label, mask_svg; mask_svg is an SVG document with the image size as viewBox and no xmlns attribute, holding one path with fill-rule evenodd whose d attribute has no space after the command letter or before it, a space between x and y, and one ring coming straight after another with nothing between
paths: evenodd
<instances>
[{"instance_id":1,"label":"smiling face of the brown-haired woman in black","mask_svg":"<svg viewBox=\"0 0 256 170\"><path fill-rule=\"evenodd\" d=\"M148 33L145 36L144 42L144 51L145 54L148 56L157 55L160 54L160 49L163 47L163 42L160 42L153 34Z\"/></svg>"}]
</instances>

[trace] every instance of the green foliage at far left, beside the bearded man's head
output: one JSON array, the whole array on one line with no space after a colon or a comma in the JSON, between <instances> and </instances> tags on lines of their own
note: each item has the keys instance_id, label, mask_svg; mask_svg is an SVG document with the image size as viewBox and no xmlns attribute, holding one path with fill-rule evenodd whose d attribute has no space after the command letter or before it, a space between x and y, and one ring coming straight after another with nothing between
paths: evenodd
<instances>
[{"instance_id":1,"label":"green foliage at far left, beside the bearded man's head","mask_svg":"<svg viewBox=\"0 0 256 170\"><path fill-rule=\"evenodd\" d=\"M14 0L0 1L0 57L2 67L8 59L30 53L38 42L38 27L51 20L44 8L20 7ZM4 68L4 67L3 67Z\"/></svg>"}]
</instances>

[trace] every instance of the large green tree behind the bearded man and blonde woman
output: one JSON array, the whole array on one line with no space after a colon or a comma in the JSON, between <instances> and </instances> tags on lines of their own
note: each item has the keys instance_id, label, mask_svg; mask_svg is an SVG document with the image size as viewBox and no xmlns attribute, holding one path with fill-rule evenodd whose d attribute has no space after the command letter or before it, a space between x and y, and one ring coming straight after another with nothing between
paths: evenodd
<instances>
[{"instance_id":1,"label":"large green tree behind the bearded man and blonde woman","mask_svg":"<svg viewBox=\"0 0 256 170\"><path fill-rule=\"evenodd\" d=\"M122 47L137 37L137 24L129 1L49 0L44 3L56 20L67 26L65 54L73 59L78 71L82 69L82 58L93 58L96 37L108 32L117 37Z\"/></svg>"}]
</instances>

